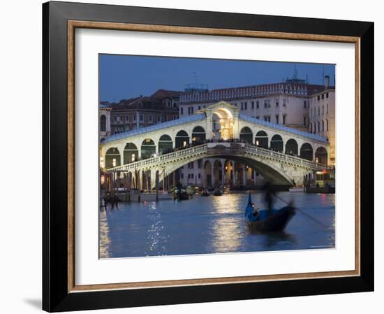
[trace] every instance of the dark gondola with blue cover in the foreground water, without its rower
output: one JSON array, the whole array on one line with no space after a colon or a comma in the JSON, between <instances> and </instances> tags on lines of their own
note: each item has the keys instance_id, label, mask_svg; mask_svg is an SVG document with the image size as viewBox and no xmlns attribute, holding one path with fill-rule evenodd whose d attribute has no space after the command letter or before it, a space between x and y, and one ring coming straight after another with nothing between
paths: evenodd
<instances>
[{"instance_id":1,"label":"dark gondola with blue cover in the foreground water, without its rower","mask_svg":"<svg viewBox=\"0 0 384 314\"><path fill-rule=\"evenodd\" d=\"M267 209L255 210L252 204L251 193L249 193L248 205L245 209L245 220L246 226L251 231L282 231L294 215L295 207L293 206L273 209L272 213L268 213Z\"/></svg>"}]
</instances>

